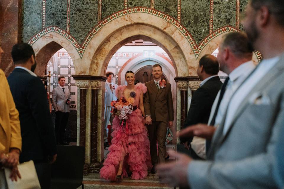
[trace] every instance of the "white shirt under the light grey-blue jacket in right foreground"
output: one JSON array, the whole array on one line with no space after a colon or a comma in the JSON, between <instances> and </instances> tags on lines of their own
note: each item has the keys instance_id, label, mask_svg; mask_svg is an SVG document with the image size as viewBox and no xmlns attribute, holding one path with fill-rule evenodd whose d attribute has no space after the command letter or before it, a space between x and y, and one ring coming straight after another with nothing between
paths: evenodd
<instances>
[{"instance_id":1,"label":"white shirt under the light grey-blue jacket in right foreground","mask_svg":"<svg viewBox=\"0 0 284 189\"><path fill-rule=\"evenodd\" d=\"M251 92L251 90L258 84L258 82L267 74L270 69L279 61L279 56L265 59L259 63L254 73L249 76L248 79L237 89L237 91L233 94L228 108L227 115L225 120L225 125L223 129L223 135L226 134L227 130L230 127L231 122L233 121L234 115L238 110L238 107L241 105L241 102L245 99L245 97Z\"/></svg>"}]
</instances>

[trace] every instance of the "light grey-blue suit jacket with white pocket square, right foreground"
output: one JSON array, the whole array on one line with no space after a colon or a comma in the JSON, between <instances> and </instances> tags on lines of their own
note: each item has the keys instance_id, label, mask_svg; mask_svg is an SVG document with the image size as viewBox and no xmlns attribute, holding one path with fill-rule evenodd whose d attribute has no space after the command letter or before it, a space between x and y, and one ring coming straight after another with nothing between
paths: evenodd
<instances>
[{"instance_id":1,"label":"light grey-blue suit jacket with white pocket square, right foreground","mask_svg":"<svg viewBox=\"0 0 284 189\"><path fill-rule=\"evenodd\" d=\"M242 101L228 131L214 133L211 161L193 161L191 188L276 188L275 141L284 125L284 55ZM212 161L214 160L214 161Z\"/></svg>"}]
</instances>

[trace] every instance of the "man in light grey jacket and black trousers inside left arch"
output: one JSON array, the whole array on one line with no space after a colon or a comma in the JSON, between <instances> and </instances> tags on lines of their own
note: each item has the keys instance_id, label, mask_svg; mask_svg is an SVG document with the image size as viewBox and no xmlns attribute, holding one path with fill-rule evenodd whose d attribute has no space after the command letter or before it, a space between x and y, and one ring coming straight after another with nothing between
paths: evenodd
<instances>
[{"instance_id":1,"label":"man in light grey jacket and black trousers inside left arch","mask_svg":"<svg viewBox=\"0 0 284 189\"><path fill-rule=\"evenodd\" d=\"M52 106L55 111L55 135L57 144L68 145L64 141L65 129L69 117L70 91L65 85L65 77L58 78L59 85L52 91Z\"/></svg>"}]
</instances>

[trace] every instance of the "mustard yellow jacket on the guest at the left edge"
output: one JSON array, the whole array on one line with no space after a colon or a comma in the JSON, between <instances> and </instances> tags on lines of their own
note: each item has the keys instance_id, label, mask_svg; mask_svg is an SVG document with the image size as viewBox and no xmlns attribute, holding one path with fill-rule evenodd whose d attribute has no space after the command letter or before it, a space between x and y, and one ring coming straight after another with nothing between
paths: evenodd
<instances>
[{"instance_id":1,"label":"mustard yellow jacket on the guest at the left edge","mask_svg":"<svg viewBox=\"0 0 284 189\"><path fill-rule=\"evenodd\" d=\"M0 69L0 154L8 153L10 148L22 149L19 112L4 72Z\"/></svg>"}]
</instances>

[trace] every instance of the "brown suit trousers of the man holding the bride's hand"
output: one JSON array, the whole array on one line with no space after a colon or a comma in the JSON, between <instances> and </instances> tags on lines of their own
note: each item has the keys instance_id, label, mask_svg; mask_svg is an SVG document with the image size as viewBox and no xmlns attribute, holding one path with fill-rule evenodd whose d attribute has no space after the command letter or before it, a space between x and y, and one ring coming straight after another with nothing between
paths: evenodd
<instances>
[{"instance_id":1,"label":"brown suit trousers of the man holding the bride's hand","mask_svg":"<svg viewBox=\"0 0 284 189\"><path fill-rule=\"evenodd\" d=\"M166 134L169 121L153 121L148 125L149 141L150 141L150 154L152 165L165 162L166 154ZM157 152L158 141L158 152Z\"/></svg>"}]
</instances>

